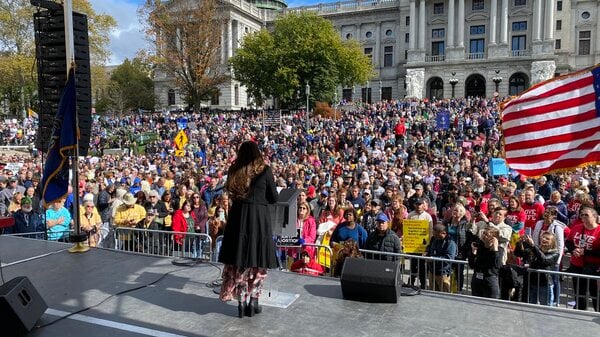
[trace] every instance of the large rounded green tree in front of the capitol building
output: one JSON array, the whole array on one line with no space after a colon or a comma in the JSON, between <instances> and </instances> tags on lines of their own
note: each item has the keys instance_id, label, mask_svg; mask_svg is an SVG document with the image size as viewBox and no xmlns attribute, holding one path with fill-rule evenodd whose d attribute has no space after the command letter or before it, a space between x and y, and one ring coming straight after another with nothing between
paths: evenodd
<instances>
[{"instance_id":1,"label":"large rounded green tree in front of the capitol building","mask_svg":"<svg viewBox=\"0 0 600 337\"><path fill-rule=\"evenodd\" d=\"M337 86L373 76L358 41L342 41L330 21L310 12L281 16L272 31L246 36L230 64L259 105L269 96L283 106L300 104L306 84L311 102L332 101Z\"/></svg>"}]
</instances>

